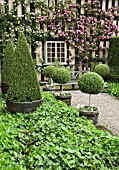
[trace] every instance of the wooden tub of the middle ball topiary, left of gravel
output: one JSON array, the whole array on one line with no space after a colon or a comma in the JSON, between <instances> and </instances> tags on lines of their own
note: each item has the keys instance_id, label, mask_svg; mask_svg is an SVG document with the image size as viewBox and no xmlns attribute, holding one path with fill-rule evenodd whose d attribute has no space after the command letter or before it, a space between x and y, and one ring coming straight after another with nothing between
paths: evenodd
<instances>
[{"instance_id":1,"label":"wooden tub of the middle ball topiary, left of gravel","mask_svg":"<svg viewBox=\"0 0 119 170\"><path fill-rule=\"evenodd\" d=\"M62 95L56 95L55 98L58 100L61 100L65 102L68 106L71 106L71 95L68 96L62 96Z\"/></svg>"}]
</instances>

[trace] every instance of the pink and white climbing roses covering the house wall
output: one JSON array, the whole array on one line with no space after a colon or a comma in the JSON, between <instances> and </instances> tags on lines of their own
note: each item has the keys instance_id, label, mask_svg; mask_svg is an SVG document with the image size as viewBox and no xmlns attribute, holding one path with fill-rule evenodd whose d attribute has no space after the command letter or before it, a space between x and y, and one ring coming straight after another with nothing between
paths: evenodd
<instances>
[{"instance_id":1,"label":"pink and white climbing roses covering the house wall","mask_svg":"<svg viewBox=\"0 0 119 170\"><path fill-rule=\"evenodd\" d=\"M24 15L17 16L17 8L21 3ZM27 11L29 4L33 7L30 12ZM42 10L35 13L35 8ZM80 12L83 8L85 15ZM85 58L92 58L90 53L93 51L107 52L107 48L101 49L98 44L100 40L110 39L113 32L117 33L117 26L113 23L116 11L117 8L114 7L107 11L102 10L98 0L93 3L85 2L82 5L72 3L71 0L60 0L57 1L57 5L52 3L50 6L45 0L28 0L27 2L14 0L11 11L8 4L5 4L5 15L0 20L0 33L3 35L2 47L5 47L9 37L16 42L17 33L22 30L34 51L38 47L38 41L65 40L76 49L78 60L85 62ZM48 29L45 29L46 27ZM68 53L68 60L71 61L75 56L70 50Z\"/></svg>"}]
</instances>

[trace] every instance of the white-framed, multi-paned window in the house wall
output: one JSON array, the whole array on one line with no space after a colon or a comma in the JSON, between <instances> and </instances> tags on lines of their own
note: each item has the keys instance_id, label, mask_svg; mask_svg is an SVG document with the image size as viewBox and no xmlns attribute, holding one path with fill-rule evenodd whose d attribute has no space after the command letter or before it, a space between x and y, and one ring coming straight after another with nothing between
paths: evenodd
<instances>
[{"instance_id":1,"label":"white-framed, multi-paned window in the house wall","mask_svg":"<svg viewBox=\"0 0 119 170\"><path fill-rule=\"evenodd\" d=\"M62 64L67 64L66 43L64 41L47 41L46 42L45 63L50 64L58 58Z\"/></svg>"}]
</instances>

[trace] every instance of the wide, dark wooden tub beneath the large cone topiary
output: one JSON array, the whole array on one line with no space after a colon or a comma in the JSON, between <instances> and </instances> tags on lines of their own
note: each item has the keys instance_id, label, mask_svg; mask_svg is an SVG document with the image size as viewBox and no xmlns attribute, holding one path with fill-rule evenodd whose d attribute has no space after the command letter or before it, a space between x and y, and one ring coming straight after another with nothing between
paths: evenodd
<instances>
[{"instance_id":1,"label":"wide, dark wooden tub beneath the large cone topiary","mask_svg":"<svg viewBox=\"0 0 119 170\"><path fill-rule=\"evenodd\" d=\"M40 106L43 99L34 100L32 102L11 102L6 101L8 111L12 113L16 112L32 112L36 110L36 107Z\"/></svg>"}]
</instances>

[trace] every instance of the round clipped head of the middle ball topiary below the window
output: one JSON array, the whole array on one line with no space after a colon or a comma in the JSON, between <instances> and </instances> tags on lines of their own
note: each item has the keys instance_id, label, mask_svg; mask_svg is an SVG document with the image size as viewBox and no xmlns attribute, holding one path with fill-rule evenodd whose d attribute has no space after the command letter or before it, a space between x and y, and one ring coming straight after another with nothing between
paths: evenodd
<instances>
[{"instance_id":1,"label":"round clipped head of the middle ball topiary below the window","mask_svg":"<svg viewBox=\"0 0 119 170\"><path fill-rule=\"evenodd\" d=\"M59 84L66 84L70 78L70 71L65 68L56 68L52 76L53 81Z\"/></svg>"}]
</instances>

